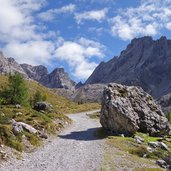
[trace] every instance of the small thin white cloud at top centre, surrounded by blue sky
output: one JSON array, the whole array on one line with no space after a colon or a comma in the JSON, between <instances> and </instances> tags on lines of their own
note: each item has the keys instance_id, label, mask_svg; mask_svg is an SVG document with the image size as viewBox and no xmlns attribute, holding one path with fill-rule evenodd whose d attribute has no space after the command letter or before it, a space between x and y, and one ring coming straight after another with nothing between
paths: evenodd
<instances>
[{"instance_id":1,"label":"small thin white cloud at top centre, surrounded by blue sky","mask_svg":"<svg viewBox=\"0 0 171 171\"><path fill-rule=\"evenodd\" d=\"M95 20L101 22L106 18L107 12L107 8L102 10L85 11L83 13L76 13L75 19L78 24L80 24L83 20Z\"/></svg>"}]
</instances>

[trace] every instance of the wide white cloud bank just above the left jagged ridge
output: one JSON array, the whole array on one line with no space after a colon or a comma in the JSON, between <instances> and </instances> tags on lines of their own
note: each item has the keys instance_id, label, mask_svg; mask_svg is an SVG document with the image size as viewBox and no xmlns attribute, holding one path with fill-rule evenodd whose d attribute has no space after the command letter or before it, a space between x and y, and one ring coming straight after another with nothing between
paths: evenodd
<instances>
[{"instance_id":1,"label":"wide white cloud bank just above the left jagged ridge","mask_svg":"<svg viewBox=\"0 0 171 171\"><path fill-rule=\"evenodd\" d=\"M3 48L5 54L15 56L19 63L32 65L48 65L54 50L55 47L50 41L11 42Z\"/></svg>"}]
</instances>

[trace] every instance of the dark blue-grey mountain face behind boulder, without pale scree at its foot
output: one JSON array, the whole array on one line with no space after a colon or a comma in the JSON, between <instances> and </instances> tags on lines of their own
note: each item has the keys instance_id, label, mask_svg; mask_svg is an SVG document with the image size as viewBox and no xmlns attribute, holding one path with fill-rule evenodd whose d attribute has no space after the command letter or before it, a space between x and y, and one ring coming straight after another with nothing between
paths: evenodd
<instances>
[{"instance_id":1,"label":"dark blue-grey mountain face behind boulder, without pale scree at its foot","mask_svg":"<svg viewBox=\"0 0 171 171\"><path fill-rule=\"evenodd\" d=\"M133 39L119 57L101 62L85 84L121 83L141 86L154 98L171 92L171 40Z\"/></svg>"}]
</instances>

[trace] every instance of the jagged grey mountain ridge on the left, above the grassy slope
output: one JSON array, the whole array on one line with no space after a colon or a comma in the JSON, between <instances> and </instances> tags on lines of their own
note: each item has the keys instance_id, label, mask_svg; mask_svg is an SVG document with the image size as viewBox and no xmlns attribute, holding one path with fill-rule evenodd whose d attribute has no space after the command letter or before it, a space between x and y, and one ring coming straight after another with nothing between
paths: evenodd
<instances>
[{"instance_id":1,"label":"jagged grey mountain ridge on the left, above the grassy slope","mask_svg":"<svg viewBox=\"0 0 171 171\"><path fill-rule=\"evenodd\" d=\"M0 52L0 74L13 74L18 72L25 78L35 80L48 88L75 89L76 83L69 78L63 68L56 68L51 73L45 66L32 66L18 64L13 58L6 58Z\"/></svg>"}]
</instances>

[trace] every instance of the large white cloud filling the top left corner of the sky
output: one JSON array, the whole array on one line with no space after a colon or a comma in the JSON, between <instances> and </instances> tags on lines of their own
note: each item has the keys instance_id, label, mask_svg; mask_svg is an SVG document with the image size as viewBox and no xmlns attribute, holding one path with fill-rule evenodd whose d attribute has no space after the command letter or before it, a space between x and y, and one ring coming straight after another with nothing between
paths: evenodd
<instances>
[{"instance_id":1,"label":"large white cloud filling the top left corner of the sky","mask_svg":"<svg viewBox=\"0 0 171 171\"><path fill-rule=\"evenodd\" d=\"M31 12L41 6L40 0L0 0L0 41L40 39Z\"/></svg>"}]
</instances>

